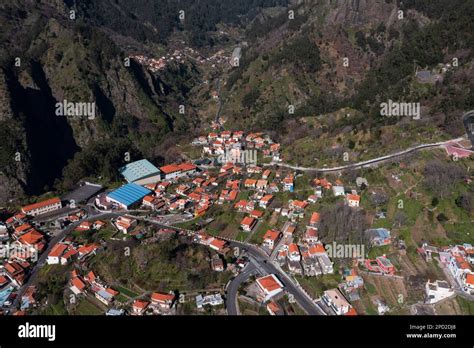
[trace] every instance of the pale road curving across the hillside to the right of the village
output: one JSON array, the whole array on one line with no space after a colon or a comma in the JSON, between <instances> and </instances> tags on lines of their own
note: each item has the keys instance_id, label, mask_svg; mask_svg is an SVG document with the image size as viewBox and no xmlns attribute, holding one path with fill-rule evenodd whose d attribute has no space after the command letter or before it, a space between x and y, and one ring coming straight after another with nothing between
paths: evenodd
<instances>
[{"instance_id":1,"label":"pale road curving across the hillside to the right of the village","mask_svg":"<svg viewBox=\"0 0 474 348\"><path fill-rule=\"evenodd\" d=\"M276 165L276 166L280 166L280 167L286 167L286 168L291 168L291 169L301 170L301 171L317 171L317 172L325 172L325 173L339 172L339 171L347 170L347 169L369 167L372 164L385 162L385 161L388 161L390 159L393 159L393 158L396 158L396 157L401 157L401 156L407 155L407 154L412 153L412 152L417 152L417 151L424 150L424 149L429 149L429 148L441 147L441 146L447 145L451 142L461 141L461 140L464 140L464 139L465 139L465 137L460 137L460 138L451 139L451 140L447 140L447 141L441 141L441 142L438 142L438 143L421 144L421 145L410 147L410 148L408 148L406 150L403 150L403 151L399 151L399 152L395 152L395 153L392 153L392 154L389 154L389 155L373 158L373 159L370 159L370 160L367 160L367 161L362 161L362 162L358 162L358 163L351 163L351 164L347 164L347 165L344 165L344 166L332 167L332 168L299 167L299 166L293 166L291 164L278 163L278 162L270 162L270 163L264 164L264 165L266 165L266 166Z\"/></svg>"}]
</instances>

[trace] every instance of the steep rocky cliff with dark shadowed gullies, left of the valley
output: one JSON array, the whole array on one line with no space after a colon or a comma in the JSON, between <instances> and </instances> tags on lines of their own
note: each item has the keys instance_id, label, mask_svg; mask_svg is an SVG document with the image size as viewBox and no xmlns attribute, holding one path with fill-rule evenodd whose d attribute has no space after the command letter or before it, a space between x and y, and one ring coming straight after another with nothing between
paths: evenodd
<instances>
[{"instance_id":1,"label":"steep rocky cliff with dark shadowed gullies, left of the valley","mask_svg":"<svg viewBox=\"0 0 474 348\"><path fill-rule=\"evenodd\" d=\"M194 83L192 65L158 74L134 61L127 66L126 52L106 33L68 20L65 11L62 1L0 7L7 23L0 29L0 123L8 139L0 153L0 204L51 189L92 142L129 137L146 153L142 141L158 143L180 124L173 105ZM95 117L58 116L64 100L95 103Z\"/></svg>"}]
</instances>

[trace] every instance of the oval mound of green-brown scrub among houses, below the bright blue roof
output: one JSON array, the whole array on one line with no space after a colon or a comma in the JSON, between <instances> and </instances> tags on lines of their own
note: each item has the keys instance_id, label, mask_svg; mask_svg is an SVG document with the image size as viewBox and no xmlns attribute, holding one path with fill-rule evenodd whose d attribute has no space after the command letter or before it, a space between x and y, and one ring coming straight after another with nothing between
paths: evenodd
<instances>
[{"instance_id":1,"label":"oval mound of green-brown scrub among houses, below the bright blue roof","mask_svg":"<svg viewBox=\"0 0 474 348\"><path fill-rule=\"evenodd\" d=\"M136 296L136 285L148 291L196 290L218 287L228 280L228 272L211 270L211 250L202 245L180 242L174 238L158 244L140 245L130 256L117 246L98 254L91 268L109 284L121 284L117 290Z\"/></svg>"}]
</instances>

